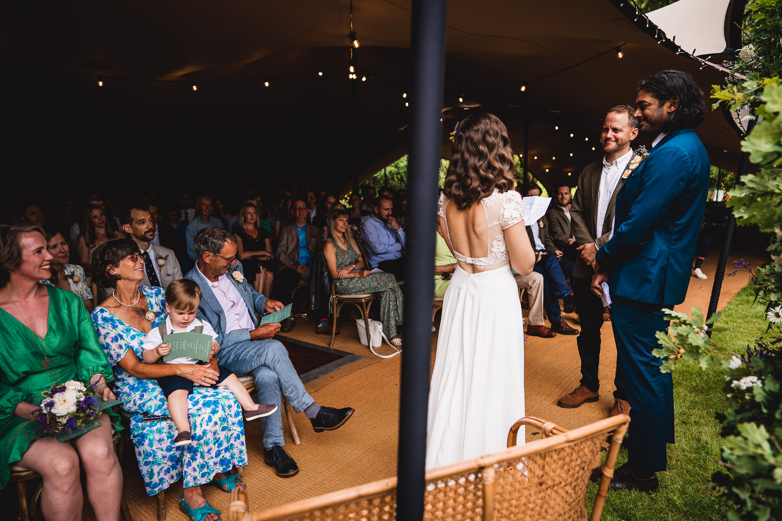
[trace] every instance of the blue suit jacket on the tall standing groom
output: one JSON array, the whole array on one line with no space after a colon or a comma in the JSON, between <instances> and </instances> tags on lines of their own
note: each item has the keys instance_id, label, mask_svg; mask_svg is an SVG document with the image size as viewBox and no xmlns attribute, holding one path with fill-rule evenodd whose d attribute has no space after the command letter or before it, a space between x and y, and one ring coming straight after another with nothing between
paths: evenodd
<instances>
[{"instance_id":1,"label":"blue suit jacket on the tall standing groom","mask_svg":"<svg viewBox=\"0 0 782 521\"><path fill-rule=\"evenodd\" d=\"M671 131L616 196L614 236L597 252L613 294L638 302L684 302L706 206L709 162L691 128Z\"/></svg>"}]
</instances>

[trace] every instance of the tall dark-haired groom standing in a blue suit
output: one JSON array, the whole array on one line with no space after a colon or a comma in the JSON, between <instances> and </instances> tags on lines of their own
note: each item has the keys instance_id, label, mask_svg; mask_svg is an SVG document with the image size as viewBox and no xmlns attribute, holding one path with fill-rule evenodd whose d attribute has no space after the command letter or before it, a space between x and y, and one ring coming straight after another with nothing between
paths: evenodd
<instances>
[{"instance_id":1,"label":"tall dark-haired groom standing in a blue suit","mask_svg":"<svg viewBox=\"0 0 782 521\"><path fill-rule=\"evenodd\" d=\"M664 70L638 87L634 116L651 152L622 173L615 234L595 255L592 291L608 282L618 368L630 402L627 463L611 486L655 491L673 443L673 380L660 373L657 331L662 309L681 304L690 283L698 229L706 205L709 162L693 128L702 123L703 91L687 73ZM635 166L633 166L633 164ZM598 476L594 476L599 480Z\"/></svg>"}]
</instances>

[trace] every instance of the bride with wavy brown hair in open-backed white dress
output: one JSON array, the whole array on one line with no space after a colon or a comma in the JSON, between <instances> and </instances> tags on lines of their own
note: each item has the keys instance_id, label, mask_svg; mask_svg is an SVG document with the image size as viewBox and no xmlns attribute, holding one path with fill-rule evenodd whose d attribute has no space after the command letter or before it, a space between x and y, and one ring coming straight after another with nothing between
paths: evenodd
<instances>
[{"instance_id":1,"label":"bride with wavy brown hair in open-backed white dress","mask_svg":"<svg viewBox=\"0 0 782 521\"><path fill-rule=\"evenodd\" d=\"M535 254L514 170L497 116L458 123L438 209L438 231L458 266L443 298L426 469L503 450L511 425L524 416L522 307L511 266L528 275Z\"/></svg>"}]
</instances>

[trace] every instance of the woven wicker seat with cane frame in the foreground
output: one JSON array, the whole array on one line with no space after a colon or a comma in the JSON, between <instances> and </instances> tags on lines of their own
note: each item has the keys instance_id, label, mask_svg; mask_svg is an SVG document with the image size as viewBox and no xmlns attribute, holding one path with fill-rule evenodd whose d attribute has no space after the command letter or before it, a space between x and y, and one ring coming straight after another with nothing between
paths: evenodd
<instances>
[{"instance_id":1,"label":"woven wicker seat with cane frame in the foreground","mask_svg":"<svg viewBox=\"0 0 782 521\"><path fill-rule=\"evenodd\" d=\"M630 416L619 415L566 431L554 423L522 418L508 433L509 447L426 473L424 519L587 519L587 484L608 433L614 441L601 467L591 521L600 519L619 445ZM515 446L522 425L540 430L542 439ZM523 514L522 514L523 512ZM231 491L229 521L304 519L396 519L396 477L248 513L245 489Z\"/></svg>"}]
</instances>

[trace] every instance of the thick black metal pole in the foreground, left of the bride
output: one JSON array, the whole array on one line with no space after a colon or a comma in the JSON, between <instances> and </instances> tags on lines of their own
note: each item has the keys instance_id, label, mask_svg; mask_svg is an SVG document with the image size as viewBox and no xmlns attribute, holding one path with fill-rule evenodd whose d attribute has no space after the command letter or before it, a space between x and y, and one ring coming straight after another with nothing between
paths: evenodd
<instances>
[{"instance_id":1,"label":"thick black metal pole in the foreground, left of the bride","mask_svg":"<svg viewBox=\"0 0 782 521\"><path fill-rule=\"evenodd\" d=\"M400 381L396 519L424 516L426 412L447 0L414 0L411 50L409 205L405 252L404 353Z\"/></svg>"}]
</instances>

